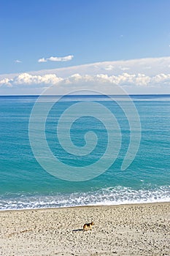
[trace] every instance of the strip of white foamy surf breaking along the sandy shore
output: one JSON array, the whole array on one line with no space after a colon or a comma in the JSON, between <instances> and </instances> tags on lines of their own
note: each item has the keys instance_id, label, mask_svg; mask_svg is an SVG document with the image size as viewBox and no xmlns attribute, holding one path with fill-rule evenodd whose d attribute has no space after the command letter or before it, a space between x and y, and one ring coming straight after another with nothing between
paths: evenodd
<instances>
[{"instance_id":1,"label":"strip of white foamy surf breaking along the sandy shore","mask_svg":"<svg viewBox=\"0 0 170 256\"><path fill-rule=\"evenodd\" d=\"M155 203L170 201L170 186L157 189L134 190L125 187L99 189L56 195L8 195L0 197L0 210L26 208L60 208L72 206L120 205L129 203Z\"/></svg>"}]
</instances>

